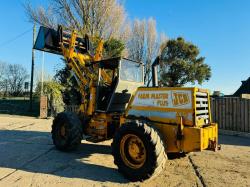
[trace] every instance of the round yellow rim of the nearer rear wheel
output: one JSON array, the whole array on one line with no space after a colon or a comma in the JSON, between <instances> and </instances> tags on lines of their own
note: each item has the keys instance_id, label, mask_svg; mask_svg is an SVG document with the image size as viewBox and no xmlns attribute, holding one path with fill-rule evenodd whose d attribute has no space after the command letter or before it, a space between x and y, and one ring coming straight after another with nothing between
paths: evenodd
<instances>
[{"instance_id":1,"label":"round yellow rim of the nearer rear wheel","mask_svg":"<svg viewBox=\"0 0 250 187\"><path fill-rule=\"evenodd\" d=\"M122 137L120 154L124 163L133 169L142 167L146 161L146 149L144 143L134 134L127 134Z\"/></svg>"}]
</instances>

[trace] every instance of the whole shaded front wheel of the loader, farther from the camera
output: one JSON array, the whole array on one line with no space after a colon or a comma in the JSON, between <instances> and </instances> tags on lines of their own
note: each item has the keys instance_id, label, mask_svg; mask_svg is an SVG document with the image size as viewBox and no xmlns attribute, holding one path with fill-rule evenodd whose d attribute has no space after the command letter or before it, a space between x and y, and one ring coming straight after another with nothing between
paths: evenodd
<instances>
[{"instance_id":1,"label":"whole shaded front wheel of the loader, farther from the camera","mask_svg":"<svg viewBox=\"0 0 250 187\"><path fill-rule=\"evenodd\" d=\"M74 113L59 113L53 121L51 133L53 143L57 149L71 151L81 144L81 121Z\"/></svg>"}]
</instances>

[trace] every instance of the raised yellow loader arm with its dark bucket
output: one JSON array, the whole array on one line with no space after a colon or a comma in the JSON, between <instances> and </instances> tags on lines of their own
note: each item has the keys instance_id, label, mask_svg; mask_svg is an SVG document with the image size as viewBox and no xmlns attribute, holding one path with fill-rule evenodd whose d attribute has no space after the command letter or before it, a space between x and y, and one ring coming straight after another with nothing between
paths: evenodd
<instances>
[{"instance_id":1,"label":"raised yellow loader arm with its dark bucket","mask_svg":"<svg viewBox=\"0 0 250 187\"><path fill-rule=\"evenodd\" d=\"M91 115L94 111L94 100L97 85L98 67L94 63L102 58L103 40L101 39L95 50L95 55L89 53L89 38L81 38L76 31L64 31L62 26L58 30L41 26L34 49L62 55L67 67L77 80L82 95L80 112ZM101 70L102 78L108 84L111 78L105 70ZM90 99L90 97L92 99Z\"/></svg>"}]
</instances>

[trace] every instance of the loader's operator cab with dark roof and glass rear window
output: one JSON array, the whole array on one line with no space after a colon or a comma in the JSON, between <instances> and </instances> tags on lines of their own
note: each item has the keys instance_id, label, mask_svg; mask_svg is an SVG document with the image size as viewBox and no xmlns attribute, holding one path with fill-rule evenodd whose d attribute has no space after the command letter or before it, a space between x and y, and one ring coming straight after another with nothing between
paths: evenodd
<instances>
[{"instance_id":1,"label":"loader's operator cab with dark roof and glass rear window","mask_svg":"<svg viewBox=\"0 0 250 187\"><path fill-rule=\"evenodd\" d=\"M143 65L120 57L102 60L98 64L96 111L124 112L132 94L144 84ZM111 83L104 81L101 74L103 69L111 77Z\"/></svg>"}]
</instances>

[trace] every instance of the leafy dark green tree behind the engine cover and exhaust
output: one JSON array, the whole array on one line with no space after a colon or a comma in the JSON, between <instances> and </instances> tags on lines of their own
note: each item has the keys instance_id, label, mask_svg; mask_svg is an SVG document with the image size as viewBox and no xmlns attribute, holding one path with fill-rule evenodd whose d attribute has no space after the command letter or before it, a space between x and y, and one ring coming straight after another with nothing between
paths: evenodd
<instances>
[{"instance_id":1,"label":"leafy dark green tree behind the engine cover and exhaust","mask_svg":"<svg viewBox=\"0 0 250 187\"><path fill-rule=\"evenodd\" d=\"M160 55L160 82L163 86L179 87L188 82L202 84L211 77L211 68L199 56L199 48L183 38L167 41Z\"/></svg>"}]
</instances>

